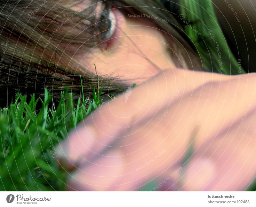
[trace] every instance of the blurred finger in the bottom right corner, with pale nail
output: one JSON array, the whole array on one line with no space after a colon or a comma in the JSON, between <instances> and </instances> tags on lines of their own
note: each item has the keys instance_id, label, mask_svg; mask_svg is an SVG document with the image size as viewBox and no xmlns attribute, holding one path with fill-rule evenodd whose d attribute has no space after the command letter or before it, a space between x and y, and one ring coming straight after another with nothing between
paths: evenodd
<instances>
[{"instance_id":1,"label":"blurred finger in the bottom right corner, with pale nail","mask_svg":"<svg viewBox=\"0 0 256 207\"><path fill-rule=\"evenodd\" d=\"M216 138L201 146L191 160L179 190L242 191L256 174L255 111Z\"/></svg>"}]
</instances>

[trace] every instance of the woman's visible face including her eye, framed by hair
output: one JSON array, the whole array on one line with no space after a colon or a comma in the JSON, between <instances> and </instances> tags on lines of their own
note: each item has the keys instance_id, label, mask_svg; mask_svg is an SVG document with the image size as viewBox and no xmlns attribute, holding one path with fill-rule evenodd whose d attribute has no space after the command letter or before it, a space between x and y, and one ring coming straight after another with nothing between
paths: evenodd
<instances>
[{"instance_id":1,"label":"woman's visible face including her eye, framed by hair","mask_svg":"<svg viewBox=\"0 0 256 207\"><path fill-rule=\"evenodd\" d=\"M100 11L99 5L96 8L99 17ZM96 64L99 76L118 77L128 79L131 84L140 84L159 71L174 66L170 55L172 44L153 23L145 21L147 18L128 17L118 9L112 9L109 18L112 24L108 30L110 39L102 42L101 47L92 48L88 54L75 55L86 70L95 73Z\"/></svg>"}]
</instances>

